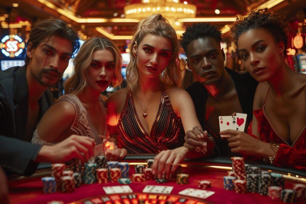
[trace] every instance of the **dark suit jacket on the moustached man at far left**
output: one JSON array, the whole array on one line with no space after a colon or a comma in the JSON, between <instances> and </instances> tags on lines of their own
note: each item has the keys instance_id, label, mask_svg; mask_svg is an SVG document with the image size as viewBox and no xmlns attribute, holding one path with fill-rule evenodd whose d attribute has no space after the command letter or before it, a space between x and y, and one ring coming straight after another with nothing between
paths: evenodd
<instances>
[{"instance_id":1,"label":"dark suit jacket on the moustached man at far left","mask_svg":"<svg viewBox=\"0 0 306 204\"><path fill-rule=\"evenodd\" d=\"M32 174L41 145L26 137L28 120L27 65L0 72L0 164L7 173ZM54 102L49 90L39 99L39 119Z\"/></svg>"}]
</instances>

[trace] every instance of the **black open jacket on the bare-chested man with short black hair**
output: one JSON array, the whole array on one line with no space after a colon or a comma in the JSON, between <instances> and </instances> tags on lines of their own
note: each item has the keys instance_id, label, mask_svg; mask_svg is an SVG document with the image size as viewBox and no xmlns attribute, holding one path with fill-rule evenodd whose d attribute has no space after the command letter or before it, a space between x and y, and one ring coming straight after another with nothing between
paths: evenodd
<instances>
[{"instance_id":1,"label":"black open jacket on the bare-chested man with short black hair","mask_svg":"<svg viewBox=\"0 0 306 204\"><path fill-rule=\"evenodd\" d=\"M225 69L233 79L242 111L243 113L248 114L247 121L250 123L253 117L253 100L258 82L248 72L235 72L227 67ZM205 107L207 100L206 88L202 83L197 81L192 83L185 90L192 98L192 101L196 108L196 115L203 130L207 130L205 121ZM208 134L211 133L208 131ZM217 138L214 137L214 139L216 143L215 154L217 156L226 157L235 155L230 151L227 139L221 139L220 135L218 135Z\"/></svg>"}]
</instances>

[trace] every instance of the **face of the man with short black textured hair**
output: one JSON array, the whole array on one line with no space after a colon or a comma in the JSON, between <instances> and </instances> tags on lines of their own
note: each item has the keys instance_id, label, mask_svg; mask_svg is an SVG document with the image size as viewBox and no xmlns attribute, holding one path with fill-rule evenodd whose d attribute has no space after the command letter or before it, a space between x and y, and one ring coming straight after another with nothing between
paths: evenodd
<instances>
[{"instance_id":1,"label":"face of the man with short black textured hair","mask_svg":"<svg viewBox=\"0 0 306 204\"><path fill-rule=\"evenodd\" d=\"M187 62L196 79L212 85L223 76L225 55L220 43L212 37L193 40L187 47Z\"/></svg>"}]
</instances>

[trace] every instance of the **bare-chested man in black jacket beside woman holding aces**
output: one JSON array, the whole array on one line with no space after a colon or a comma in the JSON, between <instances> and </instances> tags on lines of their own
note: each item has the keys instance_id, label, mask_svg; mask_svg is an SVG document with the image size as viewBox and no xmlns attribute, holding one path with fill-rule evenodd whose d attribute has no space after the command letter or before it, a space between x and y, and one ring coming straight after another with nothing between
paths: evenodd
<instances>
[{"instance_id":1,"label":"bare-chested man in black jacket beside woman holding aces","mask_svg":"<svg viewBox=\"0 0 306 204\"><path fill-rule=\"evenodd\" d=\"M187 56L188 68L198 80L186 91L191 96L203 130L194 127L185 136L184 144L190 150L208 146L215 140L215 155L233 156L227 139L219 135L219 116L234 112L246 113L247 123L252 120L253 99L258 82L247 72L238 73L224 66L225 54L221 49L221 32L215 26L199 23L186 29L181 45ZM207 137L207 134L212 137ZM205 135L205 136L204 136ZM207 140L203 145L202 140Z\"/></svg>"}]
</instances>

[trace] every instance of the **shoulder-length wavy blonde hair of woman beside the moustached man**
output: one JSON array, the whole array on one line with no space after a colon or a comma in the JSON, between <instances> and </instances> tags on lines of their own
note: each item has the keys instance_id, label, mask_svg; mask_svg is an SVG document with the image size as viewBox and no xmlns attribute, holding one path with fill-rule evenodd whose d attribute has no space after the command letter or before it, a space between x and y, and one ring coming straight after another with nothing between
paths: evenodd
<instances>
[{"instance_id":1,"label":"shoulder-length wavy blonde hair of woman beside the moustached man","mask_svg":"<svg viewBox=\"0 0 306 204\"><path fill-rule=\"evenodd\" d=\"M122 56L119 48L110 39L92 37L85 41L85 43L81 46L79 53L74 58L73 73L64 83L65 94L69 94L72 91L79 93L87 86L85 72L91 63L93 53L96 50L106 49L109 49L115 57L115 73L112 80L112 86L116 87L122 82Z\"/></svg>"}]
</instances>

